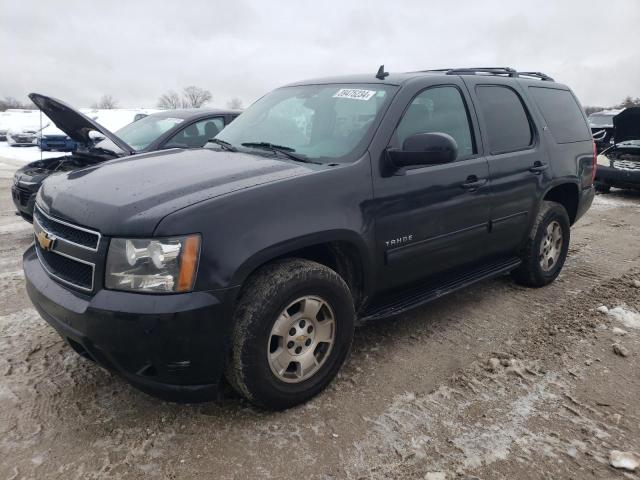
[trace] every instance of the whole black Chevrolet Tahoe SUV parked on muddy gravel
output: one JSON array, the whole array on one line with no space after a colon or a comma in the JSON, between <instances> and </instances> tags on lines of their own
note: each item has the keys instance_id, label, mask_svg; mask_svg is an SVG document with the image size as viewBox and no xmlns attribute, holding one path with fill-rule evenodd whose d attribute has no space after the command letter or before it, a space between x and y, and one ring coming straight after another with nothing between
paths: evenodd
<instances>
[{"instance_id":1,"label":"whole black Chevrolet Tahoe SUV parked on muddy gravel","mask_svg":"<svg viewBox=\"0 0 640 480\"><path fill-rule=\"evenodd\" d=\"M224 375L287 408L336 375L357 322L508 272L552 282L594 167L578 101L540 73L294 83L208 148L48 178L27 289L72 348L147 392L211 398Z\"/></svg>"}]
</instances>

